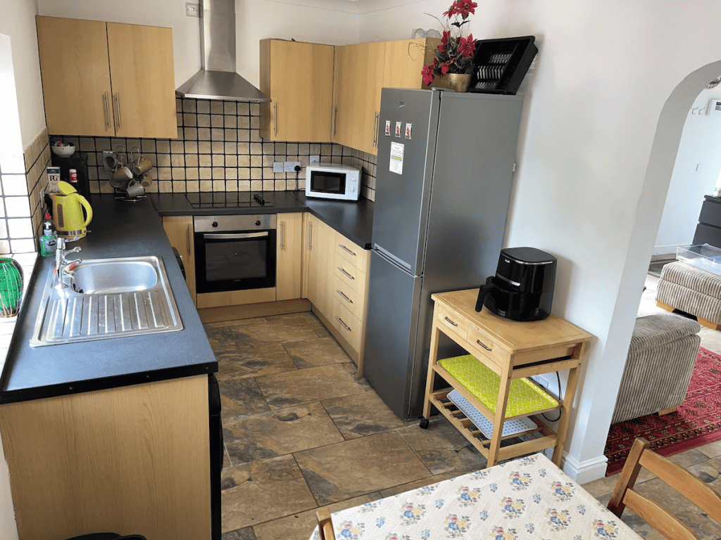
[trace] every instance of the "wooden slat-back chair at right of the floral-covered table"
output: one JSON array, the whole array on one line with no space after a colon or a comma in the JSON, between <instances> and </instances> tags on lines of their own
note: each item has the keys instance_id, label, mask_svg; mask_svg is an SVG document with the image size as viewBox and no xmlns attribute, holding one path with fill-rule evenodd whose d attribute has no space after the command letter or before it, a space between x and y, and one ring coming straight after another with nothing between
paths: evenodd
<instances>
[{"instance_id":1,"label":"wooden slat-back chair at right of the floral-covered table","mask_svg":"<svg viewBox=\"0 0 721 540\"><path fill-rule=\"evenodd\" d=\"M650 442L645 438L637 438L634 441L614 493L609 500L609 510L616 516L620 518L624 513L624 508L628 506L669 540L700 540L673 513L633 489L641 467L653 472L681 495L699 506L712 519L721 523L721 495L684 467L656 454L650 449Z\"/></svg>"}]
</instances>

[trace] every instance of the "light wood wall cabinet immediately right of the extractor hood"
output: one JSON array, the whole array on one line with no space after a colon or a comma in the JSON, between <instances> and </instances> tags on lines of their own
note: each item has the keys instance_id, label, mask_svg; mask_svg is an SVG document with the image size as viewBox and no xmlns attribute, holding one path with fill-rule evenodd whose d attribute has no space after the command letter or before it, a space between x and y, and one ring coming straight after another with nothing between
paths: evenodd
<instances>
[{"instance_id":1,"label":"light wood wall cabinet immediately right of the extractor hood","mask_svg":"<svg viewBox=\"0 0 721 540\"><path fill-rule=\"evenodd\" d=\"M264 140L331 142L333 45L285 40L260 42L260 104Z\"/></svg>"}]
</instances>

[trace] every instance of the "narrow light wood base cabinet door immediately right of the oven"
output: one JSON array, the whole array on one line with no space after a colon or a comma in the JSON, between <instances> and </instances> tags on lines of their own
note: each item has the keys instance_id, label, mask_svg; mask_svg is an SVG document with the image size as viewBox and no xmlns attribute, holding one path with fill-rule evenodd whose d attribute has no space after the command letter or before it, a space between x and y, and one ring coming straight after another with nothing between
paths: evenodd
<instances>
[{"instance_id":1,"label":"narrow light wood base cabinet door immediately right of the oven","mask_svg":"<svg viewBox=\"0 0 721 540\"><path fill-rule=\"evenodd\" d=\"M275 300L293 300L303 292L303 216L278 214Z\"/></svg>"}]
</instances>

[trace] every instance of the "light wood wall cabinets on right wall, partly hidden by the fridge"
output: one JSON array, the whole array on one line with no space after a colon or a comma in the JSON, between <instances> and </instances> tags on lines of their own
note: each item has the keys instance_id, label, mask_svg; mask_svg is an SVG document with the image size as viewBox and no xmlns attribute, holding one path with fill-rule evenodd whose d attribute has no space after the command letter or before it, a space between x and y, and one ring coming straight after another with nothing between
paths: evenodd
<instances>
[{"instance_id":1,"label":"light wood wall cabinets on right wall, partly hidden by the fridge","mask_svg":"<svg viewBox=\"0 0 721 540\"><path fill-rule=\"evenodd\" d=\"M333 142L378 154L381 89L423 88L438 40L421 38L336 47Z\"/></svg>"}]
</instances>

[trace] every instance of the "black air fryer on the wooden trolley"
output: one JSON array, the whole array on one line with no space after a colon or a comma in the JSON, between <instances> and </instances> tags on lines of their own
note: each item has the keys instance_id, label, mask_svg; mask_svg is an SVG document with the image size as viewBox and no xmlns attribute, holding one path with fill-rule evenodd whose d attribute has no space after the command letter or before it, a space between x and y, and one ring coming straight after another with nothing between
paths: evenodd
<instances>
[{"instance_id":1,"label":"black air fryer on the wooden trolley","mask_svg":"<svg viewBox=\"0 0 721 540\"><path fill-rule=\"evenodd\" d=\"M500 317L511 320L541 320L551 314L558 260L536 248L506 248L500 251L496 275L486 279L476 302Z\"/></svg>"}]
</instances>

